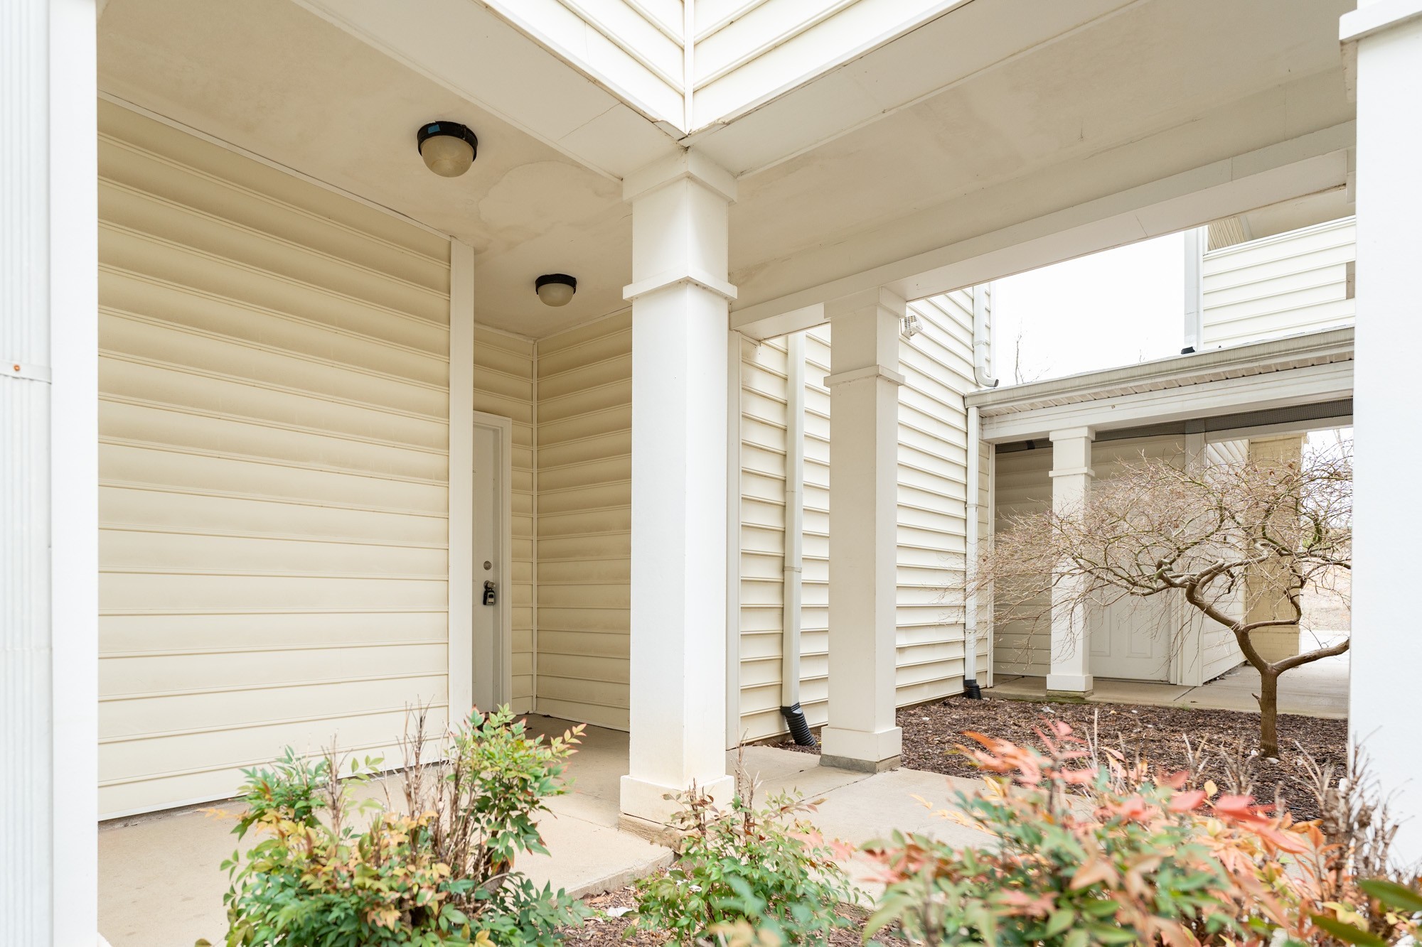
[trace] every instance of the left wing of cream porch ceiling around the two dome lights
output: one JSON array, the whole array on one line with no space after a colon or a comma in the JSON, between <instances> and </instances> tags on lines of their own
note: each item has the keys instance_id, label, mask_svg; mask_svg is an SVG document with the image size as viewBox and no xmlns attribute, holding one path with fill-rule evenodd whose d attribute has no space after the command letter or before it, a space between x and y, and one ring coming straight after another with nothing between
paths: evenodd
<instances>
[{"instance_id":1,"label":"left wing of cream porch ceiling around the two dome lights","mask_svg":"<svg viewBox=\"0 0 1422 947\"><path fill-rule=\"evenodd\" d=\"M483 324L538 337L623 306L631 218L617 181L290 0L111 0L98 81L469 243ZM431 173L417 154L415 129L438 118L479 135L461 178ZM539 303L542 273L579 276L573 301Z\"/></svg>"}]
</instances>

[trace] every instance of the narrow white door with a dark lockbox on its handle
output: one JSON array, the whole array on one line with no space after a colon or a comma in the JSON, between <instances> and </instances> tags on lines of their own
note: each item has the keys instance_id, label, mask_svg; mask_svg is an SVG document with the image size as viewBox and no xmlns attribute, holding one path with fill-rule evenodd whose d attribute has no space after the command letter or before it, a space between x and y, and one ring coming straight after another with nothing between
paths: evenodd
<instances>
[{"instance_id":1,"label":"narrow white door with a dark lockbox on its handle","mask_svg":"<svg viewBox=\"0 0 1422 947\"><path fill-rule=\"evenodd\" d=\"M474 704L492 710L510 698L509 421L474 422Z\"/></svg>"}]
</instances>

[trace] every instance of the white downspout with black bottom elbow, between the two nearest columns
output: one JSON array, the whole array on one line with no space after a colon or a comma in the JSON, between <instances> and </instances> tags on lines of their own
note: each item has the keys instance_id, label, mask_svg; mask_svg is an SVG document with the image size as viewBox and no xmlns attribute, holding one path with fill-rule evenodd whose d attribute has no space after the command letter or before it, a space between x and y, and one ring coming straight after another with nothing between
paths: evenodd
<instances>
[{"instance_id":1,"label":"white downspout with black bottom elbow, between the two nearest columns","mask_svg":"<svg viewBox=\"0 0 1422 947\"><path fill-rule=\"evenodd\" d=\"M781 707L799 704L801 574L805 567L805 333L785 353L785 613Z\"/></svg>"}]
</instances>

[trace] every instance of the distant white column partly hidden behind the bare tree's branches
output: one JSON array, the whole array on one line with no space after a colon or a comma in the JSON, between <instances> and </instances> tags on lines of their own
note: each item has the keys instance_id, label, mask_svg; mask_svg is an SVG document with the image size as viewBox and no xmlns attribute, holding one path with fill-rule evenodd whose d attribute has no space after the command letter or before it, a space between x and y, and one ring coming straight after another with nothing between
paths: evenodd
<instances>
[{"instance_id":1,"label":"distant white column partly hidden behind the bare tree's branches","mask_svg":"<svg viewBox=\"0 0 1422 947\"><path fill-rule=\"evenodd\" d=\"M1052 431L1052 509L1061 516L1079 512L1096 475L1091 469L1091 428ZM1052 670L1047 674L1047 692L1086 697L1092 690L1091 640L1086 609L1072 601L1075 580L1059 580L1052 587Z\"/></svg>"}]
</instances>

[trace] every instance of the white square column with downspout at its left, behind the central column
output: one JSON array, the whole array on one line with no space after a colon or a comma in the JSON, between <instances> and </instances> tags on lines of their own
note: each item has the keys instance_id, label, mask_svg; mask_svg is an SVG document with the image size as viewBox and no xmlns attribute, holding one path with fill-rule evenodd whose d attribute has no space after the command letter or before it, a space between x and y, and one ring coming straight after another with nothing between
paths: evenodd
<instances>
[{"instance_id":1,"label":"white square column with downspout at its left, behind the central column","mask_svg":"<svg viewBox=\"0 0 1422 947\"><path fill-rule=\"evenodd\" d=\"M828 766L890 769L899 529L899 326L887 290L829 310L829 725Z\"/></svg>"}]
</instances>

